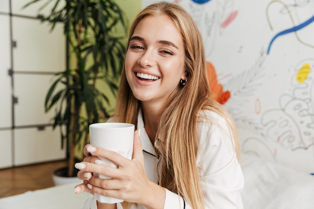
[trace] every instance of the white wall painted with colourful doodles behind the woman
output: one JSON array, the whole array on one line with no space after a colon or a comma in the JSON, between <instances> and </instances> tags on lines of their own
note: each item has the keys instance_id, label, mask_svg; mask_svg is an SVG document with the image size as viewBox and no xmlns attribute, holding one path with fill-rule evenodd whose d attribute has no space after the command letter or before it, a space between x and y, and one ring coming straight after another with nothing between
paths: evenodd
<instances>
[{"instance_id":1,"label":"white wall painted with colourful doodles behind the woman","mask_svg":"<svg viewBox=\"0 0 314 209\"><path fill-rule=\"evenodd\" d=\"M201 30L215 99L242 152L314 173L314 0L168 2Z\"/></svg>"}]
</instances>

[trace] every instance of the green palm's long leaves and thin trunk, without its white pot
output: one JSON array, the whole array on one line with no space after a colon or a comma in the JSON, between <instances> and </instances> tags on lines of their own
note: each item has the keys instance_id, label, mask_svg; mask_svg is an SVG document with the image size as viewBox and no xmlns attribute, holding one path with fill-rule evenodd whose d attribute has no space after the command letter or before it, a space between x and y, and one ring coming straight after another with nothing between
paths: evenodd
<instances>
[{"instance_id":1,"label":"green palm's long leaves and thin trunk, without its white pot","mask_svg":"<svg viewBox=\"0 0 314 209\"><path fill-rule=\"evenodd\" d=\"M34 0L53 4L42 18L51 24L63 24L71 63L55 75L45 99L46 112L54 110L53 128L59 127L66 140L67 176L75 176L75 149L88 143L88 126L105 121L112 111L106 108L108 94L115 95L125 54L126 18L114 0ZM119 31L119 34L116 35ZM100 84L103 82L104 84ZM102 87L102 88L99 88Z\"/></svg>"}]
</instances>

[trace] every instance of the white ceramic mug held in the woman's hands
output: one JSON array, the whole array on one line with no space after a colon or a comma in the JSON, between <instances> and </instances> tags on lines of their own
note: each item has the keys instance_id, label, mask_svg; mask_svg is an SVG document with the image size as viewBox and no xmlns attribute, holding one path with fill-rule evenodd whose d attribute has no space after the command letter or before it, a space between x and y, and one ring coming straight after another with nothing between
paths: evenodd
<instances>
[{"instance_id":1,"label":"white ceramic mug held in the woman's hands","mask_svg":"<svg viewBox=\"0 0 314 209\"><path fill-rule=\"evenodd\" d=\"M89 125L90 143L95 147L102 147L107 150L115 151L122 156L132 159L133 137L135 126L130 123L94 123ZM99 157L103 165L117 167L116 164L108 159ZM110 177L94 173L99 178L109 179ZM98 201L104 203L116 203L123 201L113 197L103 196L95 193Z\"/></svg>"}]
</instances>

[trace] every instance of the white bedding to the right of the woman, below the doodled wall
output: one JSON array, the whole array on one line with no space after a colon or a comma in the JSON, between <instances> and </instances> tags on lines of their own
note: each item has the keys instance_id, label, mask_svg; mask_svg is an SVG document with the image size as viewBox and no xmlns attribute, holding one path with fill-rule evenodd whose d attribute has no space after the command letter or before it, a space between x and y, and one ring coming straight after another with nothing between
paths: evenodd
<instances>
[{"instance_id":1,"label":"white bedding to the right of the woman, below the doodled wall","mask_svg":"<svg viewBox=\"0 0 314 209\"><path fill-rule=\"evenodd\" d=\"M314 176L243 156L245 209L314 209Z\"/></svg>"}]
</instances>

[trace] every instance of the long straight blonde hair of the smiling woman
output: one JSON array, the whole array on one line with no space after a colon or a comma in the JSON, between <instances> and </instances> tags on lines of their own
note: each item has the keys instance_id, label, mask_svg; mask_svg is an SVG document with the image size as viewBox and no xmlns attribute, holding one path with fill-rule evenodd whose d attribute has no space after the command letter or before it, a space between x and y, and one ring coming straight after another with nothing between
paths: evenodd
<instances>
[{"instance_id":1,"label":"long straight blonde hair of the smiling woman","mask_svg":"<svg viewBox=\"0 0 314 209\"><path fill-rule=\"evenodd\" d=\"M129 41L135 27L142 19L147 16L160 15L170 17L181 34L185 47L185 68L188 81L184 86L178 83L178 87L170 95L169 102L165 104L161 115L156 133L161 140L159 183L182 196L193 208L205 208L196 163L199 145L197 124L200 111L211 110L226 119L232 130L239 159L237 132L229 114L219 103L210 98L202 37L195 22L184 9L166 2L146 7L135 18L130 28ZM114 118L119 122L136 125L139 109L140 101L133 96L123 67Z\"/></svg>"}]
</instances>

